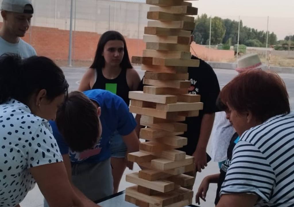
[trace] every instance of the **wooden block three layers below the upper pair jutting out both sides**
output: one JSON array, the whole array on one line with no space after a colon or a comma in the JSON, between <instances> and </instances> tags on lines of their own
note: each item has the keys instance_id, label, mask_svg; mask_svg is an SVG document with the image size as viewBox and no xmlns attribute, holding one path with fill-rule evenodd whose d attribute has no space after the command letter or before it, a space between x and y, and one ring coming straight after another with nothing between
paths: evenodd
<instances>
[{"instance_id":1,"label":"wooden block three layers below the upper pair jutting out both sides","mask_svg":"<svg viewBox=\"0 0 294 207\"><path fill-rule=\"evenodd\" d=\"M188 89L191 85L191 82L188 80L152 80L152 79L143 78L143 84L168 87L168 88Z\"/></svg>"}]
</instances>

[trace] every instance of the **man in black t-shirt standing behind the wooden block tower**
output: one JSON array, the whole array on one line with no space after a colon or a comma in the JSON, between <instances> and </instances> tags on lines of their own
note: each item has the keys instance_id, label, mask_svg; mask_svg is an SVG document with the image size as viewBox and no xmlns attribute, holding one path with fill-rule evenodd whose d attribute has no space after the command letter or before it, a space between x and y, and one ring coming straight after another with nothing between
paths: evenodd
<instances>
[{"instance_id":1,"label":"man in black t-shirt standing behind the wooden block tower","mask_svg":"<svg viewBox=\"0 0 294 207\"><path fill-rule=\"evenodd\" d=\"M193 35L191 42L193 42ZM191 59L200 60L199 67L188 67L189 80L191 86L189 93L201 95L203 102L203 110L199 111L198 117L187 117L187 132L183 137L188 138L188 145L179 150L185 151L187 155L195 157L195 171L201 172L207 166L209 156L206 154L206 147L211 134L215 112L219 110L216 107L216 99L220 92L218 79L212 67L202 59L192 56ZM143 91L143 79L139 85L139 89ZM138 120L138 117L136 117ZM195 176L195 174L194 174Z\"/></svg>"}]
</instances>

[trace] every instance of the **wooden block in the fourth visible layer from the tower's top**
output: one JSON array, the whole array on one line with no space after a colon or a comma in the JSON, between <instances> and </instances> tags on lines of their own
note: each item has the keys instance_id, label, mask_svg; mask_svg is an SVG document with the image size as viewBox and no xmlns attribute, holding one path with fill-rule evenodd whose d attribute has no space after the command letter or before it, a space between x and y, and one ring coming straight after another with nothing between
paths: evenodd
<instances>
[{"instance_id":1,"label":"wooden block in the fourth visible layer from the tower's top","mask_svg":"<svg viewBox=\"0 0 294 207\"><path fill-rule=\"evenodd\" d=\"M148 21L148 27L194 30L195 23L190 21Z\"/></svg>"}]
</instances>

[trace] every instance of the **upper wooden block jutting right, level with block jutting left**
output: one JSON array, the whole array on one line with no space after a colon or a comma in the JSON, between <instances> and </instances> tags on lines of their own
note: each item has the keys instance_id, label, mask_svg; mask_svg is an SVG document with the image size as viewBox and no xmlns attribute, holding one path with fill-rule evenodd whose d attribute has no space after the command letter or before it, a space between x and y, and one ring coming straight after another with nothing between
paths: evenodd
<instances>
[{"instance_id":1,"label":"upper wooden block jutting right, level with block jutting left","mask_svg":"<svg viewBox=\"0 0 294 207\"><path fill-rule=\"evenodd\" d=\"M187 59L170 59L170 58L153 58L153 65L163 66L188 66L188 67L199 67L199 60L187 60Z\"/></svg>"}]
</instances>

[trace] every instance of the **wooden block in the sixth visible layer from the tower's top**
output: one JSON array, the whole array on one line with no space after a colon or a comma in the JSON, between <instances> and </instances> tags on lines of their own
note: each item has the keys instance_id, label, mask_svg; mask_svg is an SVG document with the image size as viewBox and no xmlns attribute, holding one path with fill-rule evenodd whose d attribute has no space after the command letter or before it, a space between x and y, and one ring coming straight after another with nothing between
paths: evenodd
<instances>
[{"instance_id":1,"label":"wooden block in the sixth visible layer from the tower's top","mask_svg":"<svg viewBox=\"0 0 294 207\"><path fill-rule=\"evenodd\" d=\"M144 35L143 41L189 45L190 37ZM175 65L175 66L181 66L181 65Z\"/></svg>"}]
</instances>

